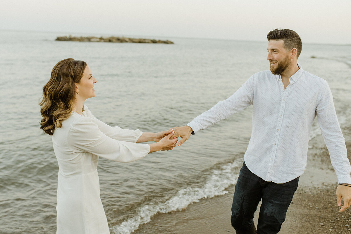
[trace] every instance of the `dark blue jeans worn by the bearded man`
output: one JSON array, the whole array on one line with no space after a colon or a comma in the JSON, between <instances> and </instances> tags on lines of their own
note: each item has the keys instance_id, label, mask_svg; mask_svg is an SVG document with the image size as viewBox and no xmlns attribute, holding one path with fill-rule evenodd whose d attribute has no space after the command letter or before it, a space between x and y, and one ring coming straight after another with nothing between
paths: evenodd
<instances>
[{"instance_id":1,"label":"dark blue jeans worn by the bearded man","mask_svg":"<svg viewBox=\"0 0 351 234\"><path fill-rule=\"evenodd\" d=\"M286 183L267 182L253 174L245 162L240 169L232 205L232 226L237 234L255 234L253 216L262 199L257 234L276 234L297 189L299 177Z\"/></svg>"}]
</instances>

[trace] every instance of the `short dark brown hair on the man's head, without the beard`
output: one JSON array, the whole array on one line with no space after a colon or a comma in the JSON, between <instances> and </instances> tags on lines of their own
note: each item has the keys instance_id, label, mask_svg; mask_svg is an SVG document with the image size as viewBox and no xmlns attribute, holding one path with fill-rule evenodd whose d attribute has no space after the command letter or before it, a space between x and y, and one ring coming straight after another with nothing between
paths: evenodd
<instances>
[{"instance_id":1,"label":"short dark brown hair on the man's head, without the beard","mask_svg":"<svg viewBox=\"0 0 351 234\"><path fill-rule=\"evenodd\" d=\"M302 42L300 36L290 29L274 29L267 34L267 40L284 40L284 48L291 50L292 48L297 49L297 58L302 50Z\"/></svg>"}]
</instances>

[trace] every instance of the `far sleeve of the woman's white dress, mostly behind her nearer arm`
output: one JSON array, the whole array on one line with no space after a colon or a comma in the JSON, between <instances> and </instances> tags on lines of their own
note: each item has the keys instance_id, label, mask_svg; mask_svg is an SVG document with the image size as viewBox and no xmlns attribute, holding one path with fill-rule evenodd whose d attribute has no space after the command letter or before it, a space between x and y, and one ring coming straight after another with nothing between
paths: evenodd
<instances>
[{"instance_id":1,"label":"far sleeve of the woman's white dress, mostly behind her nearer arm","mask_svg":"<svg viewBox=\"0 0 351 234\"><path fill-rule=\"evenodd\" d=\"M100 131L112 139L135 143L140 138L141 134L143 134L143 132L141 132L139 129L130 130L122 129L118 126L111 127L110 125L107 125L106 123L95 118L95 116L91 113L87 106L84 106L84 113L87 117L94 119Z\"/></svg>"}]
</instances>

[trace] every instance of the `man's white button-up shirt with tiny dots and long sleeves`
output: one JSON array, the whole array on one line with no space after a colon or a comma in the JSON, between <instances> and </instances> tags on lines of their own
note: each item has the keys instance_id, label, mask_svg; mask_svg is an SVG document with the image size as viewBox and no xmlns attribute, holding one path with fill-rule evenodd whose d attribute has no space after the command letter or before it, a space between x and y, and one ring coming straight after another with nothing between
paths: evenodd
<instances>
[{"instance_id":1,"label":"man's white button-up shirt with tiny dots and long sleeves","mask_svg":"<svg viewBox=\"0 0 351 234\"><path fill-rule=\"evenodd\" d=\"M196 133L252 105L246 166L265 181L285 183L305 171L309 133L317 116L339 183L351 183L345 139L329 85L298 66L285 90L280 75L256 73L228 99L187 125Z\"/></svg>"}]
</instances>

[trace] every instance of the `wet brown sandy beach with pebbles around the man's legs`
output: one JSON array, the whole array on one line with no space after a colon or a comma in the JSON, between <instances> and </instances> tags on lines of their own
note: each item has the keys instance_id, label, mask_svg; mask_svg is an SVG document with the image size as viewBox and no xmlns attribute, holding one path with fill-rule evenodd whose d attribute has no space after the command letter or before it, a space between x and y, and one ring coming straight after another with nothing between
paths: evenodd
<instances>
[{"instance_id":1,"label":"wet brown sandy beach with pebbles around the man's legs","mask_svg":"<svg viewBox=\"0 0 351 234\"><path fill-rule=\"evenodd\" d=\"M343 134L350 159L351 128L344 128ZM310 146L306 171L300 176L299 187L279 233L351 233L351 210L340 213L337 206L337 177L322 136L312 139ZM235 233L230 225L234 186L227 191L225 195L193 203L180 212L157 214L151 222L135 230L134 234ZM259 208L255 213L256 224L258 214Z\"/></svg>"}]
</instances>

